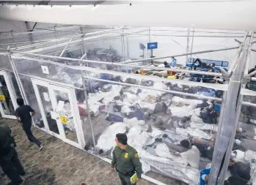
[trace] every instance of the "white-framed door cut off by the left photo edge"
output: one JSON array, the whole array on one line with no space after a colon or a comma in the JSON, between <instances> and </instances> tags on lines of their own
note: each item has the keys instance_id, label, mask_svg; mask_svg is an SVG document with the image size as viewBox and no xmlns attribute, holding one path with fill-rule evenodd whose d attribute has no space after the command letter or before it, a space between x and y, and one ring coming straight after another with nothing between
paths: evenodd
<instances>
[{"instance_id":1,"label":"white-framed door cut off by the left photo edge","mask_svg":"<svg viewBox=\"0 0 256 185\"><path fill-rule=\"evenodd\" d=\"M16 118L15 109L18 107L16 99L10 75L0 71L0 113L3 118Z\"/></svg>"}]
</instances>

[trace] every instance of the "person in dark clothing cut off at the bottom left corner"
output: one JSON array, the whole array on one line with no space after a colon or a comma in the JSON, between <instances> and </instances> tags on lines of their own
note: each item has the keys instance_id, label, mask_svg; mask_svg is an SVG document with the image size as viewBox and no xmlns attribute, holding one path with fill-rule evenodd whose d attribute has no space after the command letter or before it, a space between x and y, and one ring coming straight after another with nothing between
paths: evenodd
<instances>
[{"instance_id":1,"label":"person in dark clothing cut off at the bottom left corner","mask_svg":"<svg viewBox=\"0 0 256 185\"><path fill-rule=\"evenodd\" d=\"M20 175L26 174L14 146L10 128L0 125L0 166L11 180L7 185L21 184L23 180Z\"/></svg>"}]
</instances>

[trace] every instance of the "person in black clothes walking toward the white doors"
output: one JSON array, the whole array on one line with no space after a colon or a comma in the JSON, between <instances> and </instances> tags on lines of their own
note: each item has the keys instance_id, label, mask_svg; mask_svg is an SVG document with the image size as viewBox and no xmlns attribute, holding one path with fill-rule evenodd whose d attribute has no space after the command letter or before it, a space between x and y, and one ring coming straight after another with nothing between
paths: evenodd
<instances>
[{"instance_id":1,"label":"person in black clothes walking toward the white doors","mask_svg":"<svg viewBox=\"0 0 256 185\"><path fill-rule=\"evenodd\" d=\"M22 125L22 128L29 139L29 143L35 143L40 148L39 151L41 151L43 146L40 141L34 137L31 131L32 117L35 115L35 111L29 105L24 105L24 100L22 98L18 98L17 103L20 106L15 110L17 121Z\"/></svg>"}]
</instances>

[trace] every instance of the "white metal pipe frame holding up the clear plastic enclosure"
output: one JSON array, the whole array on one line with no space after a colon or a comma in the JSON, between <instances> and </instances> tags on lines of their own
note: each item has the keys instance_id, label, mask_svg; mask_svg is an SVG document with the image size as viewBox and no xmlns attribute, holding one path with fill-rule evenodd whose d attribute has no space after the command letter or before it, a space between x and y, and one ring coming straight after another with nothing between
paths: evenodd
<instances>
[{"instance_id":1,"label":"white metal pipe frame holding up the clear plastic enclosure","mask_svg":"<svg viewBox=\"0 0 256 185\"><path fill-rule=\"evenodd\" d=\"M125 28L122 28L122 32L120 32L120 33L122 34L121 40L124 43L125 42L124 34L128 34L128 33L123 32L123 29L125 29ZM106 32L106 31L101 31L101 32ZM113 30L110 30L107 32L117 33ZM235 131L236 131L236 128L238 127L238 118L240 116L241 105L248 105L248 106L256 107L256 104L252 104L249 102L243 102L244 95L246 95L246 94L250 95L252 93L246 93L246 91L242 91L244 89L244 83L246 82L246 80L255 80L255 78L251 78L251 76L255 75L256 72L249 74L249 75L247 75L247 72L244 72L245 69L248 69L248 67L247 67L248 62L249 62L248 56L249 56L250 50L252 50L251 45L253 43L254 32L253 31L247 32L246 36L244 37L244 42L241 42L241 45L238 47L223 48L223 49L219 49L219 50L204 50L204 51L192 52L193 41L194 41L194 32L196 32L196 31L193 30L192 35L190 35L188 33L188 35L186 36L188 42L189 42L189 37L192 37L192 45L191 45L190 52L189 52L189 44L188 44L187 45L187 53L183 53L183 54L176 55L176 56L189 56L189 55L191 56L193 54L199 54L199 53L209 53L209 52L216 52L216 51L220 51L220 50L238 49L238 55L235 58L234 65L231 69L231 71L232 71L231 73L224 72L224 70L222 70L222 73L212 73L212 72L189 71L189 70L183 70L183 69L172 69L172 71L175 71L175 72L189 72L189 73L200 74L200 75L215 75L215 76L219 76L219 77L223 76L224 78L230 77L230 82L228 85L217 84L216 86L212 86L212 85L209 86L208 84L189 82L190 86L205 86L208 88L212 87L212 88L216 88L216 89L222 89L225 91L223 99L213 98L213 97L203 97L203 96L200 97L202 99L213 99L218 102L222 102L221 116L219 118L219 128L218 128L216 143L215 143L216 149L214 150L214 153L213 153L213 162L211 165L211 175L210 175L210 179L209 179L210 182L208 183L208 184L214 184L214 185L222 185L224 183L224 174L227 171L227 165L228 165L228 162L230 159L233 140L235 137ZM150 34L146 34L146 35L150 37ZM81 35L79 35L78 37L81 37ZM69 42L62 43L62 45L65 46L65 48L62 50L62 53L64 53L65 50L68 48L67 45L69 45L69 43L71 42L72 37L68 38L68 39L70 39ZM89 37L88 37L88 39L89 39ZM51 42L56 42L56 41L57 41L57 39L51 40ZM84 43L84 37L81 37L81 39L79 39L78 42L81 42L82 45L86 44L86 43ZM37 46L37 44L29 45L27 47L25 46L21 49L33 48L34 46ZM44 50L44 49L45 48L39 48L39 50ZM122 46L122 50L125 50L124 45ZM252 51L256 51L256 50L252 50ZM98 78L91 78L91 77L88 77L86 73L84 74L84 71L106 73L106 74L111 74L111 75L120 75L120 76L137 78L137 79L138 78L139 79L147 79L147 80L153 80L155 82L164 81L164 82L188 85L187 83L183 82L182 80L152 78L152 77L147 77L147 76L142 77L139 75L127 74L125 72L114 72L114 71L108 71L108 70L104 70L104 69L95 69L95 68L84 67L84 66L75 67L75 66L70 66L67 64L59 64L54 61L46 61L46 60L40 59L38 57L77 61L80 64L84 64L84 62L86 62L87 64L106 64L106 65L112 65L112 66L116 66L116 67L142 67L145 69L168 70L168 69L163 69L163 68L158 68L158 67L145 67L145 66L131 64L131 63L140 62L140 61L150 61L150 60L152 60L152 58L143 58L143 59L138 59L138 60L134 60L134 61L124 61L121 63L109 63L109 62L105 62L105 61L90 61L87 59L83 59L84 57L86 57L86 53L84 53L80 59L76 59L76 58L62 57L62 53L60 56L47 56L47 55L42 55L42 54L36 54L33 52L32 53L31 52L21 52L21 51L13 50L13 49L9 49L9 50L7 50L7 52L8 52L8 57L10 59L10 64L12 65L12 72L14 73L15 78L18 81L18 85L21 90L22 97L26 100L26 102L28 102L28 100L26 98L26 94L23 89L19 75L24 75L26 77L34 78L34 79L45 80L46 82L48 81L51 83L56 83L62 87L68 87L68 88L77 88L77 87L70 86L68 84L63 84L63 83L57 83L57 82L47 80L47 79L34 77L32 75L25 75L25 74L18 73L18 70L15 67L15 62L12 59L12 57L17 57L18 55L23 56L23 58L44 62L47 64L54 64L57 66L67 67L70 69L76 69L79 72L81 72L81 77L83 79L98 80L98 81L114 83L114 84L118 84L118 85L122 85L122 86L134 86L134 87L140 87L140 88L148 88L150 90L165 91L170 94L181 94L181 95L186 95L186 96L190 96L190 97L195 97L194 94L189 94L189 93L183 93L183 92L178 92L178 91L169 91L169 90L163 90L163 89L157 89L157 88L149 88L149 87L145 87L145 86L132 85L129 83L119 83L119 82L113 82L110 80L100 80ZM29 58L29 56L30 56L30 58ZM170 57L172 57L172 56L162 56L162 57L157 57L154 59L170 58ZM83 82L84 82L84 80L83 80ZM78 88L78 89L81 89L84 91L87 109L89 110L89 103L88 103L87 92L86 92L87 87L86 87L85 83L83 83L83 88ZM198 96L196 96L196 97L198 97ZM237 99L237 97L238 97L238 99ZM88 118L89 118L89 124L91 127L91 132L93 135L93 144L95 146L95 136L93 134L92 121L91 121L90 116ZM235 124L233 124L233 123L235 123ZM148 178L148 177L145 177L145 178L147 178L147 180L150 180L150 178ZM161 184L156 181L154 183Z\"/></svg>"}]
</instances>

